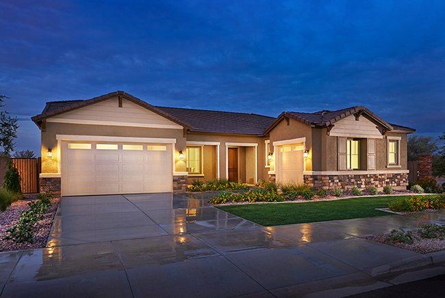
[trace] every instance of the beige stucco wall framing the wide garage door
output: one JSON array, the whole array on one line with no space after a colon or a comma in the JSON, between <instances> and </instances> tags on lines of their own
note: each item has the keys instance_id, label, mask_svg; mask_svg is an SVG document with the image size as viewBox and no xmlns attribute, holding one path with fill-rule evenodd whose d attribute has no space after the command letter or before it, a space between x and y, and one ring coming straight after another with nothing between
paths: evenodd
<instances>
[{"instance_id":1,"label":"beige stucco wall framing the wide garage door","mask_svg":"<svg viewBox=\"0 0 445 298\"><path fill-rule=\"evenodd\" d=\"M42 173L58 172L58 141L56 135L97 135L110 137L153 137L176 139L176 172L186 172L185 159L179 159L179 150L186 152L186 138L181 129L141 128L126 126L105 126L90 124L64 124L47 122L42 136ZM48 148L52 148L53 157L47 157Z\"/></svg>"}]
</instances>

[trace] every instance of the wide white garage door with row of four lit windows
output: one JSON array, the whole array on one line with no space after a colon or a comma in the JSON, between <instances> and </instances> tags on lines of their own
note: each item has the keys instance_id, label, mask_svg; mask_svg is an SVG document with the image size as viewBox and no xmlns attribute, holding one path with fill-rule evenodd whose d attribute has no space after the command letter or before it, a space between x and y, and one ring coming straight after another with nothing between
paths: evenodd
<instances>
[{"instance_id":1,"label":"wide white garage door with row of four lit windows","mask_svg":"<svg viewBox=\"0 0 445 298\"><path fill-rule=\"evenodd\" d=\"M171 144L62 141L62 195L172 191Z\"/></svg>"}]
</instances>

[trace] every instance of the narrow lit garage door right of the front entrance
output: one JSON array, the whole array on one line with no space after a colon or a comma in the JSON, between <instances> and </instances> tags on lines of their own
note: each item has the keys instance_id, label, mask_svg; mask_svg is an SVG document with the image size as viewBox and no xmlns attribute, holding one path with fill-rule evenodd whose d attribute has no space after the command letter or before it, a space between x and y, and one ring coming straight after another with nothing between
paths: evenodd
<instances>
[{"instance_id":1,"label":"narrow lit garage door right of the front entrance","mask_svg":"<svg viewBox=\"0 0 445 298\"><path fill-rule=\"evenodd\" d=\"M280 146L279 149L279 182L303 182L303 144Z\"/></svg>"}]
</instances>

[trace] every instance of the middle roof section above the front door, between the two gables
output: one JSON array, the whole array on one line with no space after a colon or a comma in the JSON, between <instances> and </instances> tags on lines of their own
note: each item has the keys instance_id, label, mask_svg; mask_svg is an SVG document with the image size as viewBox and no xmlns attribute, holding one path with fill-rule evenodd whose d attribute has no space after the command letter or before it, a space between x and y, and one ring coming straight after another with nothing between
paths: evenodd
<instances>
[{"instance_id":1,"label":"middle roof section above the front door, between the two gables","mask_svg":"<svg viewBox=\"0 0 445 298\"><path fill-rule=\"evenodd\" d=\"M262 135L275 118L252 113L157 107L193 125L192 132Z\"/></svg>"}]
</instances>

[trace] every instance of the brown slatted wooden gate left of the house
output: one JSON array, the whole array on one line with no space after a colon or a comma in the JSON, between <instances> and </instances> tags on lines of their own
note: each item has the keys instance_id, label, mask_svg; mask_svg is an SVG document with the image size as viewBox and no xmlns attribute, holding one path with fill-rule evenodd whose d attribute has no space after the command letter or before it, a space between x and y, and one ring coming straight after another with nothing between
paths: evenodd
<instances>
[{"instance_id":1,"label":"brown slatted wooden gate left of the house","mask_svg":"<svg viewBox=\"0 0 445 298\"><path fill-rule=\"evenodd\" d=\"M40 157L38 159L11 159L12 166L18 170L22 180L20 186L23 193L40 192L39 174L41 172Z\"/></svg>"}]
</instances>

